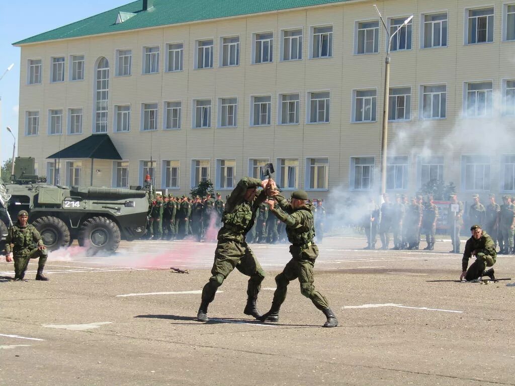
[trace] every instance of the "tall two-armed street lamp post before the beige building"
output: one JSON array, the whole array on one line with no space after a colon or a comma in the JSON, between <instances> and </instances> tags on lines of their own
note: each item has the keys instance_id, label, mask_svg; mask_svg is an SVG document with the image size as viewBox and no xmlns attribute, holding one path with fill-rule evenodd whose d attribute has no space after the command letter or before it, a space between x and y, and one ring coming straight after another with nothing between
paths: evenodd
<instances>
[{"instance_id":1,"label":"tall two-armed street lamp post before the beige building","mask_svg":"<svg viewBox=\"0 0 515 386\"><path fill-rule=\"evenodd\" d=\"M385 59L385 90L384 90L384 99L383 99L383 129L381 132L381 194L383 195L386 192L386 154L387 154L387 139L388 139L388 103L390 99L390 48L391 48L391 40L396 35L397 32L402 27L405 27L411 19L413 19L413 15L409 16L402 25L400 25L395 32L390 35L390 31L388 31L388 27L386 26L385 21L383 20L383 16L381 16L381 12L377 9L377 6L374 5L375 11L379 15L381 19L381 23L385 27L386 36L388 37L388 46L386 47L386 59Z\"/></svg>"}]
</instances>

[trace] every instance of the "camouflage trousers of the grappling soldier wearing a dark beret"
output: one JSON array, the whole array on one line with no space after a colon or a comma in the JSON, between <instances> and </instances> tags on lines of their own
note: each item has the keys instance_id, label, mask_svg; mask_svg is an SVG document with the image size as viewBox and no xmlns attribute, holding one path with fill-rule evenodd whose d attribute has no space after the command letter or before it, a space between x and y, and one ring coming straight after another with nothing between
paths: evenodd
<instances>
[{"instance_id":1,"label":"camouflage trousers of the grappling soldier wearing a dark beret","mask_svg":"<svg viewBox=\"0 0 515 386\"><path fill-rule=\"evenodd\" d=\"M290 253L293 258L288 261L279 275L276 276L277 289L273 293L271 311L279 311L281 304L286 299L286 291L291 280L299 279L300 293L308 297L316 308L323 310L329 308L329 303L324 295L315 290L313 266L318 256L318 247L311 245L300 248L290 245Z\"/></svg>"}]
</instances>

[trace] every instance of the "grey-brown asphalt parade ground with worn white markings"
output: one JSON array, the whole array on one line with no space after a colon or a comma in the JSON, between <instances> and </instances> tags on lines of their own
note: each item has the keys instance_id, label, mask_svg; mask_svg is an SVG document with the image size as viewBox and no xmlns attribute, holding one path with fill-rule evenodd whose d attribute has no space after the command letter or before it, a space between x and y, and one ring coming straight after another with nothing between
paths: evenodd
<instances>
[{"instance_id":1,"label":"grey-brown asphalt parade ground with worn white markings","mask_svg":"<svg viewBox=\"0 0 515 386\"><path fill-rule=\"evenodd\" d=\"M243 313L247 277L234 271L195 320L215 243L122 242L107 257L50 254L49 282L13 282L0 262L2 385L515 385L515 256L497 277L457 282L461 255L362 250L364 239L319 245L315 286L339 326L291 282L279 323ZM421 248L425 242L421 242ZM465 241L462 241L462 248ZM251 244L267 276L268 310L287 244ZM473 261L473 259L472 259ZM471 262L472 262L471 261ZM188 274L169 268L187 269Z\"/></svg>"}]
</instances>

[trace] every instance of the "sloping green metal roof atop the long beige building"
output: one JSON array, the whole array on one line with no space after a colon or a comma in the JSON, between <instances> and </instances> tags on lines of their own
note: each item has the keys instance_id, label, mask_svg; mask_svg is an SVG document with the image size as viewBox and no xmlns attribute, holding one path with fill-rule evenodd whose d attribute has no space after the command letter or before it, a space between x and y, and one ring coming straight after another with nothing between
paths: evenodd
<instances>
[{"instance_id":1,"label":"sloping green metal roof atop the long beige building","mask_svg":"<svg viewBox=\"0 0 515 386\"><path fill-rule=\"evenodd\" d=\"M88 17L88 19L20 40L13 45L347 1L349 0L155 0L153 8L142 11L143 0L138 0ZM136 13L136 15L123 23L115 24L116 18L121 12Z\"/></svg>"}]
</instances>

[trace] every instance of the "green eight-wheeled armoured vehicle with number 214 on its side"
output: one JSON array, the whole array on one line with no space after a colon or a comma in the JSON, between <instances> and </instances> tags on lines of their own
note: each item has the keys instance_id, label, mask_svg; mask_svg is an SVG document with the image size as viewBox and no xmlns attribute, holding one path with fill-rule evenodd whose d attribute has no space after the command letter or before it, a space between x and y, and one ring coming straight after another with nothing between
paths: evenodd
<instances>
[{"instance_id":1,"label":"green eight-wheeled armoured vehicle with number 214 on its side","mask_svg":"<svg viewBox=\"0 0 515 386\"><path fill-rule=\"evenodd\" d=\"M49 185L34 175L31 157L16 157L11 180L6 184L0 179L2 236L22 209L50 251L77 239L90 255L111 253L121 240L145 233L148 199L144 190Z\"/></svg>"}]
</instances>

